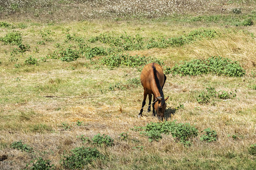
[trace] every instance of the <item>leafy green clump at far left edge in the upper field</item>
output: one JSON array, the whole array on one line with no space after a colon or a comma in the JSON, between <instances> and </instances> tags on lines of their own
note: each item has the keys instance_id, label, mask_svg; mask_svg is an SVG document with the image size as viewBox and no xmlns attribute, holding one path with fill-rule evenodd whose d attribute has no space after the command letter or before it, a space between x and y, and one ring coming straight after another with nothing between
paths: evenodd
<instances>
[{"instance_id":1,"label":"leafy green clump at far left edge in the upper field","mask_svg":"<svg viewBox=\"0 0 256 170\"><path fill-rule=\"evenodd\" d=\"M0 37L0 40L5 44L20 45L22 44L22 36L19 31L7 33L4 37Z\"/></svg>"}]
</instances>

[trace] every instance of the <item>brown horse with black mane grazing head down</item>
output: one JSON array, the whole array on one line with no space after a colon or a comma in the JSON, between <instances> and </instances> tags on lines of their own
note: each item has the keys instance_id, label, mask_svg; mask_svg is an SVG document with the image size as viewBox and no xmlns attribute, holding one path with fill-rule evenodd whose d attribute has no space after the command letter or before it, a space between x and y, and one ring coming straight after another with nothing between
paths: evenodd
<instances>
[{"instance_id":1,"label":"brown horse with black mane grazing head down","mask_svg":"<svg viewBox=\"0 0 256 170\"><path fill-rule=\"evenodd\" d=\"M166 82L166 75L163 73L162 67L157 63L149 63L148 65L144 66L141 73L141 84L144 88L144 99L142 102L142 108L141 112L139 112L139 116L142 116L143 107L146 104L146 99L148 95L149 103L148 103L148 109L147 111L150 112L150 105L151 105L151 99L152 94L153 97L153 103L152 103L152 109L153 109L153 116L155 116L155 110L158 115L158 118L163 120L164 117L164 111L166 111L166 99L164 99L163 95L163 86Z\"/></svg>"}]
</instances>

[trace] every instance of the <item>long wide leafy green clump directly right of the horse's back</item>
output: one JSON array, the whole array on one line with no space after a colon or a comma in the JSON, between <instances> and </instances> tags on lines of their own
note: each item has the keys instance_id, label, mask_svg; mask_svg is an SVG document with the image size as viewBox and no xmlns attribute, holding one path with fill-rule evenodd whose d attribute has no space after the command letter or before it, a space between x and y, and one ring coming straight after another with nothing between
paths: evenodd
<instances>
[{"instance_id":1,"label":"long wide leafy green clump directly right of the horse's back","mask_svg":"<svg viewBox=\"0 0 256 170\"><path fill-rule=\"evenodd\" d=\"M180 76L216 74L241 77L245 75L245 69L243 69L239 63L222 57L193 59L192 61L184 62L181 65L175 65L169 72Z\"/></svg>"}]
</instances>

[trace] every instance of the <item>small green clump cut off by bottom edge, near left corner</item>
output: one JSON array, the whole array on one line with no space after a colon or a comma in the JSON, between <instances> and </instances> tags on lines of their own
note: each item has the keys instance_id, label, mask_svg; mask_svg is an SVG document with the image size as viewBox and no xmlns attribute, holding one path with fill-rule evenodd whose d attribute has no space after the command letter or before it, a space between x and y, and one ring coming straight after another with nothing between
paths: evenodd
<instances>
[{"instance_id":1,"label":"small green clump cut off by bottom edge, near left corner","mask_svg":"<svg viewBox=\"0 0 256 170\"><path fill-rule=\"evenodd\" d=\"M28 169L31 170L47 170L47 169L54 169L54 165L51 164L50 160L44 160L43 158L39 157L34 159L30 162L32 165L26 165ZM26 169L27 169L26 168Z\"/></svg>"}]
</instances>

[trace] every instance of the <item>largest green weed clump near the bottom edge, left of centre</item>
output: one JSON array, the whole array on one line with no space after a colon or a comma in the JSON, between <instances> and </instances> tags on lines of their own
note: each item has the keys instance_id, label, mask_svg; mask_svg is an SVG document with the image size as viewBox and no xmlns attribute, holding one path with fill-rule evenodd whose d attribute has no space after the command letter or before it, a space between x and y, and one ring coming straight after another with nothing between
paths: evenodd
<instances>
[{"instance_id":1,"label":"largest green weed clump near the bottom edge, left of centre","mask_svg":"<svg viewBox=\"0 0 256 170\"><path fill-rule=\"evenodd\" d=\"M82 169L86 164L92 163L97 158L103 158L97 148L82 146L71 150L71 154L64 155L61 163L67 169Z\"/></svg>"}]
</instances>

